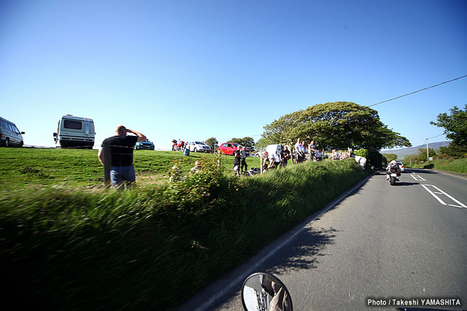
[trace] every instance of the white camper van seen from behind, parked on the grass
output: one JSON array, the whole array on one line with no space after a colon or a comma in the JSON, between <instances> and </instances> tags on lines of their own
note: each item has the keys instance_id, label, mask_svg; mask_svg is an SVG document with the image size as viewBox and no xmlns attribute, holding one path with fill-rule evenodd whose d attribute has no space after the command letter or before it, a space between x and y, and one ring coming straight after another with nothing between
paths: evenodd
<instances>
[{"instance_id":1,"label":"white camper van seen from behind, parked on the grass","mask_svg":"<svg viewBox=\"0 0 467 311\"><path fill-rule=\"evenodd\" d=\"M57 133L54 133L55 143L60 142L63 148L93 148L94 122L87 117L64 115L58 121Z\"/></svg>"}]
</instances>

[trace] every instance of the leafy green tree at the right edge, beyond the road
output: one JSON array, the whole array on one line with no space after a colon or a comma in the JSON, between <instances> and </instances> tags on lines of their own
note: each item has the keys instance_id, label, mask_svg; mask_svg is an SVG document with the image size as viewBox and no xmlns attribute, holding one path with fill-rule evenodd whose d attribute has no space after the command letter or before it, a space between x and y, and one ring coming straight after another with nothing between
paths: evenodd
<instances>
[{"instance_id":1,"label":"leafy green tree at the right edge, beyond the road","mask_svg":"<svg viewBox=\"0 0 467 311\"><path fill-rule=\"evenodd\" d=\"M430 122L435 126L444 128L444 134L457 146L467 146L467 104L464 110L457 108L449 109L451 115L440 113L437 122Z\"/></svg>"}]
</instances>

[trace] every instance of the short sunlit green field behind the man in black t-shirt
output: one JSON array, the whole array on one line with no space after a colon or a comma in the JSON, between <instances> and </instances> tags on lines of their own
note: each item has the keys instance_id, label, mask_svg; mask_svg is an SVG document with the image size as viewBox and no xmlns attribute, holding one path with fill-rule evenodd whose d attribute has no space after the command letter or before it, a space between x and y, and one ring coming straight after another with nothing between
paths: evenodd
<instances>
[{"instance_id":1,"label":"short sunlit green field behind the man in black t-shirt","mask_svg":"<svg viewBox=\"0 0 467 311\"><path fill-rule=\"evenodd\" d=\"M134 163L137 183L151 185L168 180L168 172L179 163L188 172L194 161L211 159L214 154L135 150ZM231 168L234 158L222 156L225 168ZM259 167L260 159L247 159L249 168ZM0 148L0 183L2 189L31 187L102 188L104 169L98 161L98 150Z\"/></svg>"}]
</instances>

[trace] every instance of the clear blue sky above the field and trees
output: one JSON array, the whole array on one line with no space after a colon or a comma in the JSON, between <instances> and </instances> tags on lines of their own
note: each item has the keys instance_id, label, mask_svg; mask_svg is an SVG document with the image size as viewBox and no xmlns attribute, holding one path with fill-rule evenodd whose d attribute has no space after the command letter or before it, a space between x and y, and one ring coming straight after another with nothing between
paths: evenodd
<instances>
[{"instance_id":1,"label":"clear blue sky above the field and trees","mask_svg":"<svg viewBox=\"0 0 467 311\"><path fill-rule=\"evenodd\" d=\"M314 104L371 105L467 74L467 1L0 1L1 117L54 146L62 115L156 148L263 133ZM467 78L375 106L413 146ZM444 141L444 135L431 141Z\"/></svg>"}]
</instances>

